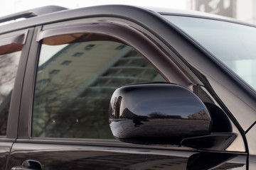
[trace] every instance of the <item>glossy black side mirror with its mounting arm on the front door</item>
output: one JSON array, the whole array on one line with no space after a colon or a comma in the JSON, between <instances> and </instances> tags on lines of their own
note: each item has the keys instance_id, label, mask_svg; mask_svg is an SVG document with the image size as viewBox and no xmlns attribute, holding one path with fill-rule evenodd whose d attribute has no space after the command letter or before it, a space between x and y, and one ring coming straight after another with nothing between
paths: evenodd
<instances>
[{"instance_id":1,"label":"glossy black side mirror with its mounting arm on the front door","mask_svg":"<svg viewBox=\"0 0 256 170\"><path fill-rule=\"evenodd\" d=\"M233 134L212 134L212 119L204 103L176 84L120 87L112 95L109 120L114 137L123 142L223 149L223 139L234 140Z\"/></svg>"}]
</instances>

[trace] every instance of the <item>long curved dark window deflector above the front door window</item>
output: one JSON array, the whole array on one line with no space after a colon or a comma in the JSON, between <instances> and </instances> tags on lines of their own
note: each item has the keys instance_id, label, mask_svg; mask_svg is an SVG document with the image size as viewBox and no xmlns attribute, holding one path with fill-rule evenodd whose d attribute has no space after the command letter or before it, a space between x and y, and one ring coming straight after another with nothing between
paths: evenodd
<instances>
[{"instance_id":1,"label":"long curved dark window deflector above the front door window","mask_svg":"<svg viewBox=\"0 0 256 170\"><path fill-rule=\"evenodd\" d=\"M131 45L133 47L139 47L139 51L142 52L144 56L147 56L149 60L158 60L156 63L160 63L159 59L156 59L155 57L159 55L165 55L163 52L161 52L159 49L156 49L156 46L146 40L144 35L141 33L137 33L137 31L131 30L131 28L128 28L127 26L119 25L118 23L84 23L82 25L76 25L76 26L60 26L56 28L46 28L43 30L38 31L38 35L36 38L36 41L39 42L43 40L43 44L47 45L61 45L68 42L64 42L62 40L59 40L59 43L51 42L51 40L54 40L54 37L60 36L60 35L68 35L68 34L85 34L85 33L93 33L93 34L102 34L107 35L107 37L114 38L115 42L118 42L118 40L126 40L125 43ZM137 39L134 40L134 37ZM47 40L47 42L45 42ZM102 40L102 39L101 39ZM110 39L108 39L110 40ZM143 45L142 45L143 44ZM169 72L167 69L160 70L162 72L162 75L166 74L166 77L173 77L176 81L179 82L182 86L187 86L192 90L191 84L193 82L191 79L186 77L183 72L181 72L178 67L169 60L169 66L171 64L172 72ZM162 63L166 64L166 62ZM163 67L163 66L161 66ZM175 73L175 74L173 74Z\"/></svg>"}]
</instances>

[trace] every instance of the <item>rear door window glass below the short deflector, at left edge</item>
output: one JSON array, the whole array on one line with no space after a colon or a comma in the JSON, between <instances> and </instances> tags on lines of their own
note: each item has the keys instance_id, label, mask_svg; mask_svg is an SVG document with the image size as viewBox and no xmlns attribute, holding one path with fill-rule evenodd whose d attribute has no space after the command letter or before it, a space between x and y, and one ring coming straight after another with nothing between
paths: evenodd
<instances>
[{"instance_id":1,"label":"rear door window glass below the short deflector, at left edge","mask_svg":"<svg viewBox=\"0 0 256 170\"><path fill-rule=\"evenodd\" d=\"M21 52L0 55L0 135L6 135L11 92L18 69Z\"/></svg>"}]
</instances>

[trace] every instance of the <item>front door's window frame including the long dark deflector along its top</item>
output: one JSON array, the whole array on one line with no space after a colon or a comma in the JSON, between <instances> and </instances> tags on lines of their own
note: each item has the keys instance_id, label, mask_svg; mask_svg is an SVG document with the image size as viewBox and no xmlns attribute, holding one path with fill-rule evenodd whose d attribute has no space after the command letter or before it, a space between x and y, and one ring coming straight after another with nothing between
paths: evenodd
<instances>
[{"instance_id":1,"label":"front door's window frame including the long dark deflector along its top","mask_svg":"<svg viewBox=\"0 0 256 170\"><path fill-rule=\"evenodd\" d=\"M111 18L114 20L114 18ZM93 22L92 22L93 21ZM74 24L77 23L77 24ZM79 23L79 24L78 24ZM75 21L66 21L65 23L53 23L46 26L38 26L36 28L36 36L33 37L33 44L31 45L31 54L28 59L28 71L30 74L26 75L24 85L24 91L30 94L27 106L24 106L24 114L22 119L20 119L19 124L22 128L18 129L18 135L23 140L29 139L29 141L58 141L58 142L90 142L90 141L102 141L99 139L79 139L79 138L56 138L56 137L31 137L31 122L32 122L32 111L33 111L33 91L34 84L36 83L36 70L38 63L38 54L41 49L41 40L53 37L55 35L65 35L70 33L100 33L103 35L108 35L114 39L122 40L122 42L134 47L139 53L141 53L146 60L148 60L152 66L164 77L167 81L170 77L174 76L181 84L191 88L191 80L186 77L186 75L178 69L176 64L170 60L168 52L166 52L161 45L156 41L151 39L151 35L146 35L142 33L142 30L133 28L132 26L127 26L127 23L113 23L102 21L101 18L95 21L93 19L81 19ZM34 50L36 49L36 50ZM35 55L37 56L35 58ZM173 66L173 67L170 67ZM33 72L33 76L31 75ZM175 72L175 75L174 75ZM170 75L171 74L171 75ZM25 103L25 102L24 102ZM22 105L23 106L23 105ZM26 110L26 111L25 111ZM114 141L116 140L106 140Z\"/></svg>"}]
</instances>

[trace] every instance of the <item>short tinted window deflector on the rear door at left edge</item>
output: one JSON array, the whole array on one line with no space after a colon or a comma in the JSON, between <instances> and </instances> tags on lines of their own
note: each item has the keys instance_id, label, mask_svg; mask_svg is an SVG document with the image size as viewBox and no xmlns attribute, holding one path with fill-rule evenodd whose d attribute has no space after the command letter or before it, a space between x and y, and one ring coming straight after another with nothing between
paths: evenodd
<instances>
[{"instance_id":1,"label":"short tinted window deflector on the rear door at left edge","mask_svg":"<svg viewBox=\"0 0 256 170\"><path fill-rule=\"evenodd\" d=\"M0 55L21 51L26 42L26 35L27 31L0 39Z\"/></svg>"}]
</instances>

